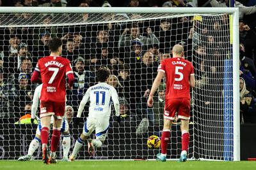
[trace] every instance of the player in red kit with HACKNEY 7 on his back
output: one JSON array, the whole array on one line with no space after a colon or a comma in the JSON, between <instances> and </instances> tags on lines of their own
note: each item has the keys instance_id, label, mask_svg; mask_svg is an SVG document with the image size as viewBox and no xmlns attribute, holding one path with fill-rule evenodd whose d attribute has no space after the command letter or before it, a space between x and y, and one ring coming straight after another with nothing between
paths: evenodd
<instances>
[{"instance_id":1,"label":"player in red kit with HACKNEY 7 on his back","mask_svg":"<svg viewBox=\"0 0 256 170\"><path fill-rule=\"evenodd\" d=\"M61 120L65 113L66 75L68 77L68 89L74 84L74 74L70 61L60 57L62 41L60 38L52 38L49 41L51 54L38 60L35 71L31 77L34 83L43 83L40 96L41 141L43 161L45 164L56 163L56 150L60 142ZM39 77L41 75L41 78ZM53 132L51 139L51 154L48 153L48 138L51 116L54 116Z\"/></svg>"}]
</instances>

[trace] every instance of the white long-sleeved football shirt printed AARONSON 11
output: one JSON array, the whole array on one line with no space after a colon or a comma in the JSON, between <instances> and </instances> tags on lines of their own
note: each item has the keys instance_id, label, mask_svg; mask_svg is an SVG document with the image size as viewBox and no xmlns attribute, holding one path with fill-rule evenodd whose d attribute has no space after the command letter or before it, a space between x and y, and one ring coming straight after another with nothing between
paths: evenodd
<instances>
[{"instance_id":1,"label":"white long-sleeved football shirt printed AARONSON 11","mask_svg":"<svg viewBox=\"0 0 256 170\"><path fill-rule=\"evenodd\" d=\"M109 118L111 114L111 102L113 101L116 116L119 116L119 101L116 89L107 83L98 83L90 87L77 111L77 117L81 117L85 104L90 100L89 117Z\"/></svg>"}]
</instances>

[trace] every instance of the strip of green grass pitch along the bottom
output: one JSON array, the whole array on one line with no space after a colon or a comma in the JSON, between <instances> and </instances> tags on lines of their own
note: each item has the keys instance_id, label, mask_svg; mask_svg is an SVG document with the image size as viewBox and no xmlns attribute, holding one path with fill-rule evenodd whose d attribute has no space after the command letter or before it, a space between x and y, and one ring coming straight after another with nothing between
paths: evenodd
<instances>
[{"instance_id":1,"label":"strip of green grass pitch along the bottom","mask_svg":"<svg viewBox=\"0 0 256 170\"><path fill-rule=\"evenodd\" d=\"M166 170L182 170L182 169L205 169L205 170L250 170L256 169L256 161L241 161L241 162L220 162L220 161L187 161L187 162L177 162L169 161L159 162L159 161L134 161L134 160L77 160L74 162L61 162L58 161L57 164L43 164L42 161L28 161L28 162L18 162L15 160L0 160L0 169L7 170L71 170L71 169L83 169L83 170L136 170L136 169L166 169Z\"/></svg>"}]
</instances>

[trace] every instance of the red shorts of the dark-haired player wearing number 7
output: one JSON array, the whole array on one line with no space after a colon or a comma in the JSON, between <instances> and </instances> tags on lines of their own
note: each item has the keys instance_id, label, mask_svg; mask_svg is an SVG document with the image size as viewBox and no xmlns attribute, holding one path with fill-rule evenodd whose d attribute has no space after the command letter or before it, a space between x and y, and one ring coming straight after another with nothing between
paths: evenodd
<instances>
[{"instance_id":1,"label":"red shorts of the dark-haired player wearing number 7","mask_svg":"<svg viewBox=\"0 0 256 170\"><path fill-rule=\"evenodd\" d=\"M62 119L65 114L65 102L57 103L54 101L41 101L40 117L56 115L58 119Z\"/></svg>"}]
</instances>

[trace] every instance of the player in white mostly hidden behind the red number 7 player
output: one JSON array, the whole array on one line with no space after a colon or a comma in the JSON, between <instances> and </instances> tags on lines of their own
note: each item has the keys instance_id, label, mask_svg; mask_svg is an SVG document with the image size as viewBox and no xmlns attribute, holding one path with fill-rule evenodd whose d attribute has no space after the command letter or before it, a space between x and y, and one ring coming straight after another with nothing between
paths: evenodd
<instances>
[{"instance_id":1,"label":"player in white mostly hidden behind the red number 7 player","mask_svg":"<svg viewBox=\"0 0 256 170\"><path fill-rule=\"evenodd\" d=\"M39 98L42 90L42 86L38 85L35 89L34 97L33 97L33 103L32 103L32 108L31 108L31 119L33 122L33 119L36 117L36 111L37 111L37 106L39 103ZM62 147L63 147L63 161L69 161L68 159L68 152L70 149L70 133L69 133L69 126L68 123L72 122L72 117L74 115L74 110L72 106L66 106L66 118L63 118L61 122L61 134L63 135L63 141L62 141ZM53 117L51 117L51 126L53 123ZM41 142L41 129L42 129L42 124L41 122L37 126L36 129L36 136L35 138L31 141L29 148L28 148L28 155L24 155L22 157L19 157L19 161L27 161L27 160L33 160L33 153L37 150L39 143Z\"/></svg>"}]
</instances>

